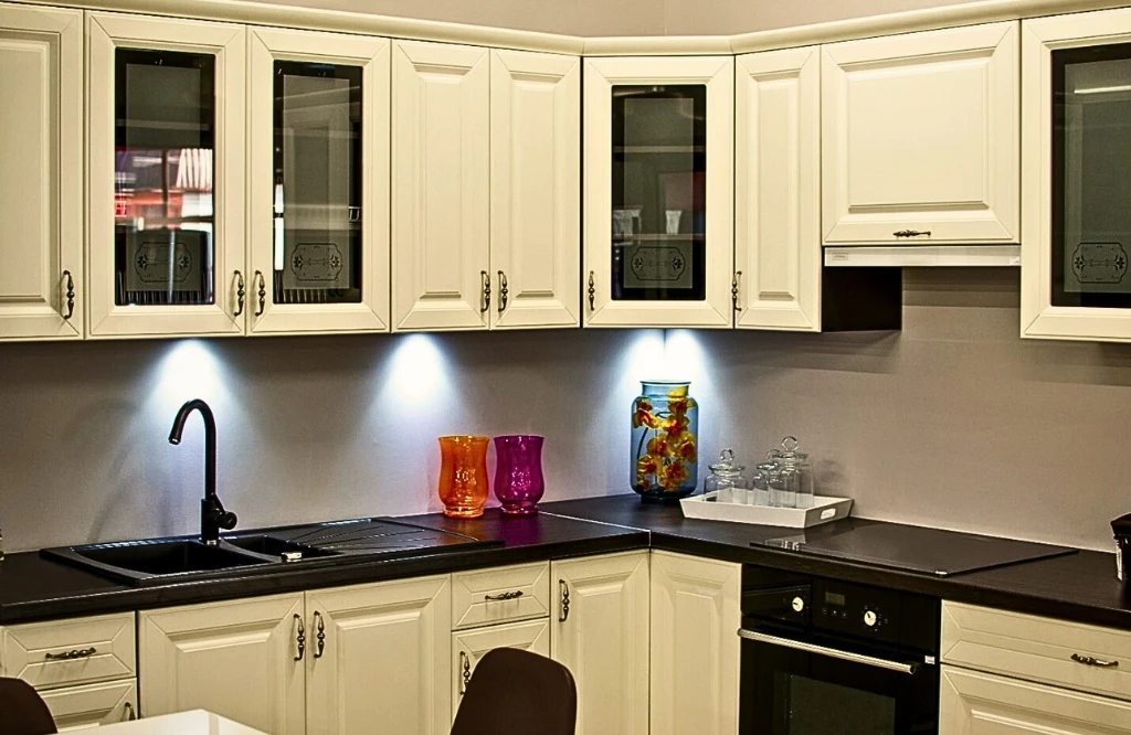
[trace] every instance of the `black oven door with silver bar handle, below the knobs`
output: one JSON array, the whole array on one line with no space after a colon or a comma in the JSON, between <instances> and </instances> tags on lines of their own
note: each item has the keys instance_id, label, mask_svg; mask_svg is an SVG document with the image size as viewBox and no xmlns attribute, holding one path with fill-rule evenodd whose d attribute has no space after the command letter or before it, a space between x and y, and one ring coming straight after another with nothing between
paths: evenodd
<instances>
[{"instance_id":1,"label":"black oven door with silver bar handle, below the knobs","mask_svg":"<svg viewBox=\"0 0 1131 735\"><path fill-rule=\"evenodd\" d=\"M742 735L938 735L939 667L922 654L745 623L739 634Z\"/></svg>"}]
</instances>

